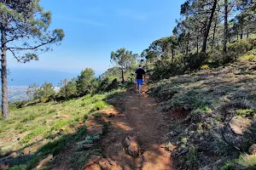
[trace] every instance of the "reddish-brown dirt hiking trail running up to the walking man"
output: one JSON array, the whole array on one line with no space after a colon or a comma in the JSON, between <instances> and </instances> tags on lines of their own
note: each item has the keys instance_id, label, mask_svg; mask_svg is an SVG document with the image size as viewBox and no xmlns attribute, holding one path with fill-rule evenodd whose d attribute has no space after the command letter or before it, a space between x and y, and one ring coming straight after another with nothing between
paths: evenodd
<instances>
[{"instance_id":1,"label":"reddish-brown dirt hiking trail running up to the walking man","mask_svg":"<svg viewBox=\"0 0 256 170\"><path fill-rule=\"evenodd\" d=\"M143 91L147 88L144 85ZM171 153L163 147L168 133L165 114L158 111L154 99L145 93L139 97L134 88L130 88L108 102L118 114L111 119L111 127L102 141L103 154L125 170L172 170ZM139 150L134 152L138 154L125 147L127 137L137 141Z\"/></svg>"}]
</instances>

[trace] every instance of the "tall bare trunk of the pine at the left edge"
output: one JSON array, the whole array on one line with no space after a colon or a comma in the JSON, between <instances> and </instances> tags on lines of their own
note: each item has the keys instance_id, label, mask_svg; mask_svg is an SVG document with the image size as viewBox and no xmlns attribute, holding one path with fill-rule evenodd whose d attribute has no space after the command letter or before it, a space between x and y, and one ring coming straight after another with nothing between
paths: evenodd
<instances>
[{"instance_id":1,"label":"tall bare trunk of the pine at the left edge","mask_svg":"<svg viewBox=\"0 0 256 170\"><path fill-rule=\"evenodd\" d=\"M2 59L1 59L1 78L2 78L2 118L7 119L9 117L8 106L8 87L7 87L7 60L6 60L6 32L2 27L1 30L1 43L2 43Z\"/></svg>"}]
</instances>

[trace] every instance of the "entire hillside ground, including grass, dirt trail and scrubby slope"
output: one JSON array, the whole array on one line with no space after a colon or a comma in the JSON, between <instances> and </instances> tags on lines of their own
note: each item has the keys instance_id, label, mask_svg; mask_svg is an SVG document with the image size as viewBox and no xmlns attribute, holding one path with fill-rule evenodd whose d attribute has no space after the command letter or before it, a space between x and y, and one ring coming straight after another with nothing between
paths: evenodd
<instances>
[{"instance_id":1,"label":"entire hillside ground, including grass, dirt trail and scrubby slope","mask_svg":"<svg viewBox=\"0 0 256 170\"><path fill-rule=\"evenodd\" d=\"M12 108L0 122L0 166L253 169L255 50L236 63L202 68L151 82L141 98L132 87Z\"/></svg>"}]
</instances>

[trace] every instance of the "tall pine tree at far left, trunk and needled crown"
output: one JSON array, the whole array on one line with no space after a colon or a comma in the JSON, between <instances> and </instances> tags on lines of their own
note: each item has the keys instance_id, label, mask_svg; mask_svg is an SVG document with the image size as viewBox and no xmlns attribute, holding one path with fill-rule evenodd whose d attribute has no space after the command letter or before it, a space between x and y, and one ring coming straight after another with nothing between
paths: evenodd
<instances>
[{"instance_id":1,"label":"tall pine tree at far left, trunk and needled crown","mask_svg":"<svg viewBox=\"0 0 256 170\"><path fill-rule=\"evenodd\" d=\"M9 116L7 87L7 52L18 62L38 60L38 52L48 51L50 44L61 42L61 29L48 31L51 13L39 0L4 0L0 3L2 117Z\"/></svg>"}]
</instances>

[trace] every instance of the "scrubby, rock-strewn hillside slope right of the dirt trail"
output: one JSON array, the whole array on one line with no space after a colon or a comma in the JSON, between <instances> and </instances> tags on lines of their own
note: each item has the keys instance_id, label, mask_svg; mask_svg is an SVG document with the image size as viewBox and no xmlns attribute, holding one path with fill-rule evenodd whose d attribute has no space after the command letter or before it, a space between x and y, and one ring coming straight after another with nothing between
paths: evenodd
<instances>
[{"instance_id":1,"label":"scrubby, rock-strewn hillside slope right of the dirt trail","mask_svg":"<svg viewBox=\"0 0 256 170\"><path fill-rule=\"evenodd\" d=\"M178 167L256 167L254 155L238 158L256 142L255 78L254 49L234 64L151 84L162 111L172 117L169 139Z\"/></svg>"}]
</instances>

